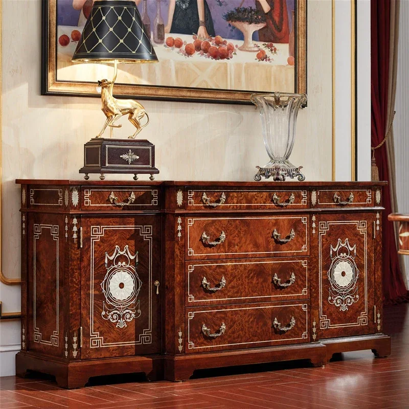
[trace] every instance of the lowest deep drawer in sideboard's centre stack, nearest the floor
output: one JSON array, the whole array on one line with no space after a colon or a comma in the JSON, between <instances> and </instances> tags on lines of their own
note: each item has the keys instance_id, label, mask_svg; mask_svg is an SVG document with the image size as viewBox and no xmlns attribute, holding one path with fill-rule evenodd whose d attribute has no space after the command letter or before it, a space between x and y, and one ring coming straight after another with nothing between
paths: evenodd
<instances>
[{"instance_id":1,"label":"lowest deep drawer in sideboard's centre stack, nearest the floor","mask_svg":"<svg viewBox=\"0 0 409 409\"><path fill-rule=\"evenodd\" d=\"M187 353L307 343L308 304L187 308L186 332Z\"/></svg>"}]
</instances>

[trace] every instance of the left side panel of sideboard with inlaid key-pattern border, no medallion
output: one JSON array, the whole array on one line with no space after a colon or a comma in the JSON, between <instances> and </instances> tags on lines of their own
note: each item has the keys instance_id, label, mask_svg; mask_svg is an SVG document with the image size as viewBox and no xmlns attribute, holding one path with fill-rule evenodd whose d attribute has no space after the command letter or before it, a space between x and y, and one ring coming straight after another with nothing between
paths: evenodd
<instances>
[{"instance_id":1,"label":"left side panel of sideboard with inlaid key-pattern border, no medallion","mask_svg":"<svg viewBox=\"0 0 409 409\"><path fill-rule=\"evenodd\" d=\"M64 356L64 216L30 213L28 218L27 350Z\"/></svg>"}]
</instances>

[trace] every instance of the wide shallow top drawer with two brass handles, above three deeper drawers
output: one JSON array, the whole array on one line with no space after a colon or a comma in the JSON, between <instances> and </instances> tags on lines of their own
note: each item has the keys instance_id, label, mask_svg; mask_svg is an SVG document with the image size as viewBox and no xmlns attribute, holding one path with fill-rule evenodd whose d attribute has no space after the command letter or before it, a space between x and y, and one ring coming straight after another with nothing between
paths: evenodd
<instances>
[{"instance_id":1,"label":"wide shallow top drawer with two brass handles, above three deeper drawers","mask_svg":"<svg viewBox=\"0 0 409 409\"><path fill-rule=\"evenodd\" d=\"M186 209L305 209L306 190L188 189Z\"/></svg>"}]
</instances>

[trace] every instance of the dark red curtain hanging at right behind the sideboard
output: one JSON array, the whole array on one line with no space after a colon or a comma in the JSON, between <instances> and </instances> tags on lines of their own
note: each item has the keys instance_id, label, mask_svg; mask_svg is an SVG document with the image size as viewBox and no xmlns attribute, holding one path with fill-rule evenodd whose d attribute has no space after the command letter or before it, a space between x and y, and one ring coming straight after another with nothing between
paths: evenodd
<instances>
[{"instance_id":1,"label":"dark red curtain hanging at right behind the sideboard","mask_svg":"<svg viewBox=\"0 0 409 409\"><path fill-rule=\"evenodd\" d=\"M390 0L371 1L371 144L380 144L385 138L388 124ZM386 144L375 150L379 179L389 180ZM388 215L392 213L389 187L383 189L383 288L384 301L396 303L407 297L406 286L399 268L395 232ZM376 285L376 284L375 284Z\"/></svg>"}]
</instances>

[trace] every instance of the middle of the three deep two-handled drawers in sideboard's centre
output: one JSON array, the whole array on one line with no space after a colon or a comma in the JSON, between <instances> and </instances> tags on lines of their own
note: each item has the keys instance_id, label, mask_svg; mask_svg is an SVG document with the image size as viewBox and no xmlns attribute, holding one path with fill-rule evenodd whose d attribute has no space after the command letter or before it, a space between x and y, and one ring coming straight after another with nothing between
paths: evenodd
<instances>
[{"instance_id":1,"label":"middle of the three deep two-handled drawers in sideboard's centre","mask_svg":"<svg viewBox=\"0 0 409 409\"><path fill-rule=\"evenodd\" d=\"M186 263L186 305L309 298L308 258Z\"/></svg>"}]
</instances>

